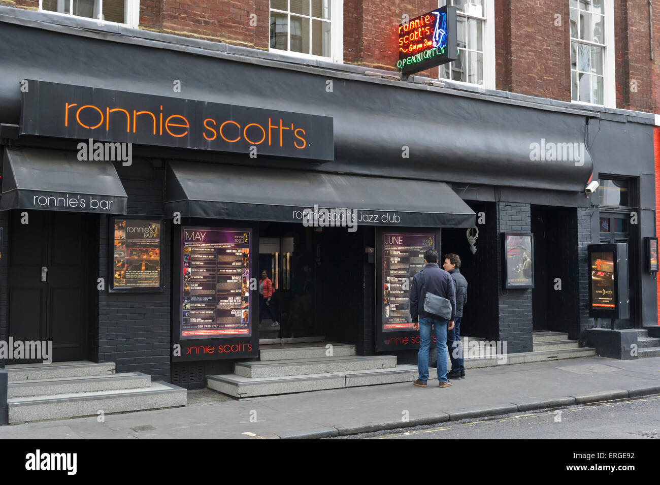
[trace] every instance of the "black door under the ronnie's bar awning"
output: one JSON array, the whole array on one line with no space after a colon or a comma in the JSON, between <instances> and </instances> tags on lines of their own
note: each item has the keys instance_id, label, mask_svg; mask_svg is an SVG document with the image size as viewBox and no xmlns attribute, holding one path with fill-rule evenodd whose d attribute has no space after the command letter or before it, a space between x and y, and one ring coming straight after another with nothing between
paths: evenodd
<instances>
[{"instance_id":1,"label":"black door under the ronnie's bar awning","mask_svg":"<svg viewBox=\"0 0 660 485\"><path fill-rule=\"evenodd\" d=\"M53 362L86 358L90 280L90 216L32 210L28 224L11 215L9 335L52 340ZM40 362L38 360L10 363Z\"/></svg>"}]
</instances>

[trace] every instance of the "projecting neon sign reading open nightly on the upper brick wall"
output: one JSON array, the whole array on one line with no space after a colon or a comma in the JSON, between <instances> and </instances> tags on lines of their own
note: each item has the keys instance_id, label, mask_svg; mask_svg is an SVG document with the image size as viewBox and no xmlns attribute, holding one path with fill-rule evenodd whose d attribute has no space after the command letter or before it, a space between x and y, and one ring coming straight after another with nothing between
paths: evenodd
<instances>
[{"instance_id":1,"label":"projecting neon sign reading open nightly on the upper brick wall","mask_svg":"<svg viewBox=\"0 0 660 485\"><path fill-rule=\"evenodd\" d=\"M399 25L401 72L418 73L456 59L456 7L441 7Z\"/></svg>"}]
</instances>

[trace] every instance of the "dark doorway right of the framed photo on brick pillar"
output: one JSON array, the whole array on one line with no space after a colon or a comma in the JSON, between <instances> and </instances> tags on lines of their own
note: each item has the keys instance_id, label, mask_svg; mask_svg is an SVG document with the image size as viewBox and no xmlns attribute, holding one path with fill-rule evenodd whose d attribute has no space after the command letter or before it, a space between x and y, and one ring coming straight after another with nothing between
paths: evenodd
<instances>
[{"instance_id":1,"label":"dark doorway right of the framed photo on brick pillar","mask_svg":"<svg viewBox=\"0 0 660 485\"><path fill-rule=\"evenodd\" d=\"M579 321L578 210L531 207L534 331L568 332Z\"/></svg>"}]
</instances>

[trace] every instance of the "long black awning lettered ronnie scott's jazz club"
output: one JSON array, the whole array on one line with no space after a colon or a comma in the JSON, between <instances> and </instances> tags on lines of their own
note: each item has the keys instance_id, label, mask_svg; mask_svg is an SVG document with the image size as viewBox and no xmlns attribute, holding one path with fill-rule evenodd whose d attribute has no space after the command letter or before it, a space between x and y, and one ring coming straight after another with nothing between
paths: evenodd
<instances>
[{"instance_id":1,"label":"long black awning lettered ronnie scott's jazz club","mask_svg":"<svg viewBox=\"0 0 660 485\"><path fill-rule=\"evenodd\" d=\"M314 222L315 209L347 209L357 224L475 225L475 212L442 182L186 162L170 162L167 177L166 213L184 217Z\"/></svg>"}]
</instances>

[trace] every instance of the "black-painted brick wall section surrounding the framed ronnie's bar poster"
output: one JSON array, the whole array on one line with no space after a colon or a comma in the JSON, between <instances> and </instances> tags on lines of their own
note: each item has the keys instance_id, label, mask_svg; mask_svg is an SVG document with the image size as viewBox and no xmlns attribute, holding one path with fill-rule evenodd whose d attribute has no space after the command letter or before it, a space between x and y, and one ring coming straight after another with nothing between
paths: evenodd
<instances>
[{"instance_id":1,"label":"black-painted brick wall section surrounding the framed ronnie's bar poster","mask_svg":"<svg viewBox=\"0 0 660 485\"><path fill-rule=\"evenodd\" d=\"M159 166L160 165L160 166ZM133 160L116 165L128 195L128 213L162 216L164 166ZM144 372L153 380L170 380L170 248L169 221L163 225L162 293L108 293L108 216L100 218L100 276L106 291L98 299L98 360L117 364L116 372Z\"/></svg>"}]
</instances>

